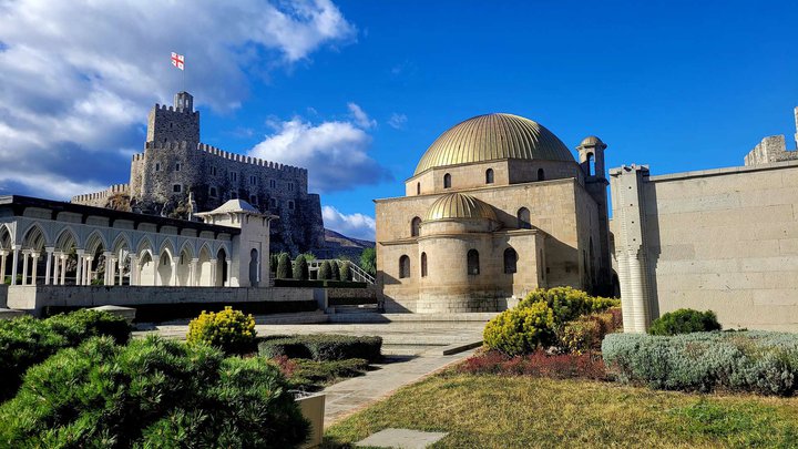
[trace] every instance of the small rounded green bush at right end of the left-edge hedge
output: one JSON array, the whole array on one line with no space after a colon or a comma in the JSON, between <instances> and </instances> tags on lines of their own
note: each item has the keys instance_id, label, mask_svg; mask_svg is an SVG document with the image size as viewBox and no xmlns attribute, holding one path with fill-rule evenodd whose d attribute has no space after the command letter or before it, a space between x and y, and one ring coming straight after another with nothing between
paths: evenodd
<instances>
[{"instance_id":1,"label":"small rounded green bush at right end of the left-edge hedge","mask_svg":"<svg viewBox=\"0 0 798 449\"><path fill-rule=\"evenodd\" d=\"M91 337L112 337L117 345L125 345L133 328L124 318L106 312L81 309L59 314L45 319L48 326L66 341L86 340Z\"/></svg>"}]
</instances>

